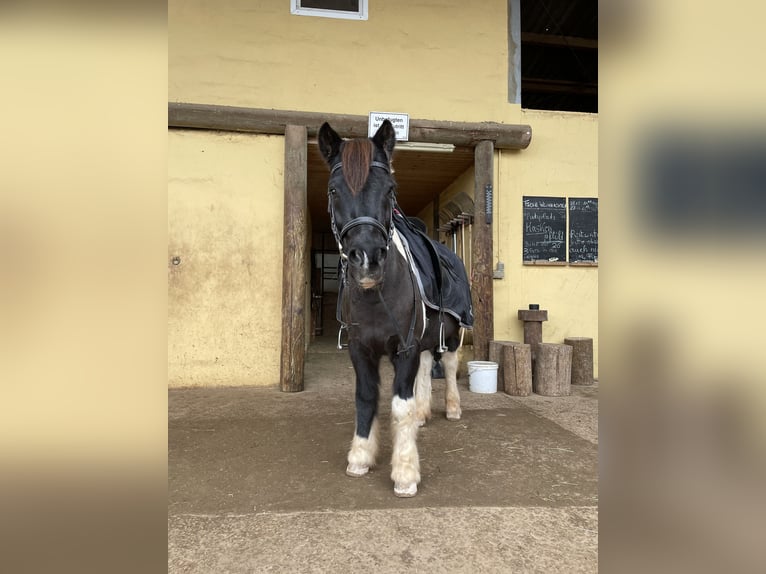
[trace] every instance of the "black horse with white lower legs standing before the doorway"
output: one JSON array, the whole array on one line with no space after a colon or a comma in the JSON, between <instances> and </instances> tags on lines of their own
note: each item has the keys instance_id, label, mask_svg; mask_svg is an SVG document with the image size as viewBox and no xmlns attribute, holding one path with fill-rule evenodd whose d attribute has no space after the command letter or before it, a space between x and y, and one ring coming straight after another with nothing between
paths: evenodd
<instances>
[{"instance_id":1,"label":"black horse with white lower legs standing before the doorway","mask_svg":"<svg viewBox=\"0 0 766 574\"><path fill-rule=\"evenodd\" d=\"M327 123L318 134L319 149L330 168L328 209L341 256L339 319L348 332L356 372L356 431L346 474L363 476L375 464L378 367L381 357L387 355L395 371L391 479L394 493L409 497L417 493L420 482L416 438L418 427L431 416L433 356L441 356L444 365L447 418L458 420L456 351L461 327L469 327L472 316L468 280L460 260L418 234L398 209L391 170L395 142L394 128L387 120L370 139L343 140ZM409 241L406 228L415 234ZM418 236L423 244L428 242L427 253L434 261L439 294L431 299L438 298L438 303L429 300L424 288L424 284L434 283L434 277L419 270L411 254L415 247L411 243ZM421 259L428 259L428 255L422 256L422 245L420 249ZM449 273L443 272L445 263ZM464 320L441 303L449 277L458 279L463 300L467 293Z\"/></svg>"}]
</instances>

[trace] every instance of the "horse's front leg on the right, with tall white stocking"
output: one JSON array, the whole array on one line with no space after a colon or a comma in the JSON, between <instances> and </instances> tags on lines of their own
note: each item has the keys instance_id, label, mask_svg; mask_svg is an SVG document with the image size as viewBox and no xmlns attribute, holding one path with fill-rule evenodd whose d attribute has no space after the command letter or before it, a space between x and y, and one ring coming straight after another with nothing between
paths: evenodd
<instances>
[{"instance_id":1,"label":"horse's front leg on the right, with tall white stocking","mask_svg":"<svg viewBox=\"0 0 766 574\"><path fill-rule=\"evenodd\" d=\"M393 454L391 455L391 480L394 494L401 497L415 496L420 482L420 458L418 457L418 422L415 415L413 387L420 366L420 355L397 357L395 360L394 398L391 400L391 432Z\"/></svg>"}]
</instances>

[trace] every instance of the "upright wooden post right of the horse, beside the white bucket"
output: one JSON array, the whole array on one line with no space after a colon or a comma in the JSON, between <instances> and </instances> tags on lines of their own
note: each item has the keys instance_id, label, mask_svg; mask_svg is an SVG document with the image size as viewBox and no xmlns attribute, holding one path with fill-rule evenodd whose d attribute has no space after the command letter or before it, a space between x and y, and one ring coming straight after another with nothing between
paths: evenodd
<instances>
[{"instance_id":1,"label":"upright wooden post right of the horse, beside the white bucket","mask_svg":"<svg viewBox=\"0 0 766 574\"><path fill-rule=\"evenodd\" d=\"M494 145L482 141L474 151L474 221L471 246L474 360L486 361L494 332L492 297L492 224L487 222L486 188L493 184ZM490 205L490 213L492 206Z\"/></svg>"}]
</instances>

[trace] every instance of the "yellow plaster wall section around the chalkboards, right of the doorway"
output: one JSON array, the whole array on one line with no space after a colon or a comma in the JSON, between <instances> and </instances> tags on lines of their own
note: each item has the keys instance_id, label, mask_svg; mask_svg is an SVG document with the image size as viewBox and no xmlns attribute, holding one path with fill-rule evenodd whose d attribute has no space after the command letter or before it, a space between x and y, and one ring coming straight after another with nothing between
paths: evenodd
<instances>
[{"instance_id":1,"label":"yellow plaster wall section around the chalkboards, right of the doorway","mask_svg":"<svg viewBox=\"0 0 766 574\"><path fill-rule=\"evenodd\" d=\"M593 337L598 376L598 267L522 264L524 195L598 197L598 116L524 110L532 143L522 152L496 152L495 263L505 279L494 280L495 338L523 340L518 309L538 303L548 310L543 340Z\"/></svg>"}]
</instances>

